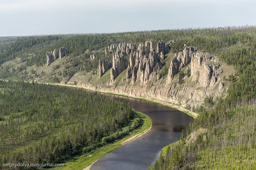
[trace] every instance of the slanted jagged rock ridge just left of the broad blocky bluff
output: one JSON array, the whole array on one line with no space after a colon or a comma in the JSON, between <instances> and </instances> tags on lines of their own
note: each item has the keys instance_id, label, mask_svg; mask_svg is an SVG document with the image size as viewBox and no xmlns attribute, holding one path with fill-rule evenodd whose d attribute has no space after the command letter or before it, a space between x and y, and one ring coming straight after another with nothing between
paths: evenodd
<instances>
[{"instance_id":1,"label":"slanted jagged rock ridge just left of the broad blocky bluff","mask_svg":"<svg viewBox=\"0 0 256 170\"><path fill-rule=\"evenodd\" d=\"M166 78L166 83L170 83L173 77L180 72L180 70L187 66L191 61L192 54L197 51L197 48L193 46L187 46L184 44L182 52L175 54L171 60L170 67L168 69L168 75Z\"/></svg>"}]
</instances>

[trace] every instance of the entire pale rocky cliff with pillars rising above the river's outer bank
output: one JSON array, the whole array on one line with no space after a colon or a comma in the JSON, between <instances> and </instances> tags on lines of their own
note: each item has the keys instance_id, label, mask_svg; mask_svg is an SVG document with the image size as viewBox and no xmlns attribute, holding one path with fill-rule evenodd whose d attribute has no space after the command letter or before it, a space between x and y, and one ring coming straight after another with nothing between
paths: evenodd
<instances>
[{"instance_id":1,"label":"entire pale rocky cliff with pillars rising above the river's outer bank","mask_svg":"<svg viewBox=\"0 0 256 170\"><path fill-rule=\"evenodd\" d=\"M68 83L76 81L77 85L92 89L153 98L183 107L196 107L203 103L206 96L215 99L226 93L230 81L223 81L223 76L228 77L235 72L233 66L228 66L216 56L199 52L196 47L186 44L178 55L168 53L170 43L159 41L156 51L152 41L118 44L116 50L112 50L113 66L106 72L109 78L104 76L96 80L92 77L91 81L86 75L78 72ZM113 47L110 45L109 48L111 46ZM107 66L109 65L106 63L105 70ZM169 67L167 74L163 74L165 67ZM103 61L99 64L100 75L101 70L103 73ZM184 75L182 82L179 81L181 70L184 73L190 70L188 75Z\"/></svg>"}]
</instances>

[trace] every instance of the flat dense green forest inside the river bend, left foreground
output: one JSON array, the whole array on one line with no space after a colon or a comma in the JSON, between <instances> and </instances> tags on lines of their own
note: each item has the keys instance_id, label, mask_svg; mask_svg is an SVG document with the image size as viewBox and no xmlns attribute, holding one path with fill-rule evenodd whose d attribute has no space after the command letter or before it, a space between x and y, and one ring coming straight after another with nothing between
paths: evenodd
<instances>
[{"instance_id":1,"label":"flat dense green forest inside the river bend, left foreground","mask_svg":"<svg viewBox=\"0 0 256 170\"><path fill-rule=\"evenodd\" d=\"M96 92L0 81L1 166L88 154L138 128L142 122L134 118L130 104Z\"/></svg>"}]
</instances>

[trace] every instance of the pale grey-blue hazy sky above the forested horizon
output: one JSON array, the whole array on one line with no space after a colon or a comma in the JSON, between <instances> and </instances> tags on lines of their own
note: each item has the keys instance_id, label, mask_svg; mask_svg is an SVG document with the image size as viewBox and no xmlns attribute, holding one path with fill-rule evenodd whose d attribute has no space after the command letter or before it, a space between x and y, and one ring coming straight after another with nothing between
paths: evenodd
<instances>
[{"instance_id":1,"label":"pale grey-blue hazy sky above the forested horizon","mask_svg":"<svg viewBox=\"0 0 256 170\"><path fill-rule=\"evenodd\" d=\"M256 25L255 0L0 0L0 36Z\"/></svg>"}]
</instances>

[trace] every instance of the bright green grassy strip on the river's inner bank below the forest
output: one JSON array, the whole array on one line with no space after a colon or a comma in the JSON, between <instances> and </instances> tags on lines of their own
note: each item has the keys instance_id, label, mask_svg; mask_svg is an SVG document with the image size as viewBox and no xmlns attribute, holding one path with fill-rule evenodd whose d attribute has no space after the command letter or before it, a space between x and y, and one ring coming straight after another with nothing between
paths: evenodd
<instances>
[{"instance_id":1,"label":"bright green grassy strip on the river's inner bank below the forest","mask_svg":"<svg viewBox=\"0 0 256 170\"><path fill-rule=\"evenodd\" d=\"M54 167L52 169L67 169L67 170L83 169L84 167L91 165L95 160L104 156L106 153L113 151L114 149L123 145L127 139L131 138L134 135L143 133L148 128L150 128L151 123L152 123L150 118L148 116L146 116L145 114L140 113L138 111L134 110L134 112L143 120L143 125L140 127L140 129L134 131L132 135L129 135L115 143L101 147L101 148L97 149L96 151L94 151L93 153L91 153L91 155L80 154L73 158L69 158L68 160L61 162L61 163L64 163L64 167ZM41 168L41 169L44 169L44 168Z\"/></svg>"}]
</instances>

